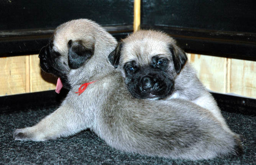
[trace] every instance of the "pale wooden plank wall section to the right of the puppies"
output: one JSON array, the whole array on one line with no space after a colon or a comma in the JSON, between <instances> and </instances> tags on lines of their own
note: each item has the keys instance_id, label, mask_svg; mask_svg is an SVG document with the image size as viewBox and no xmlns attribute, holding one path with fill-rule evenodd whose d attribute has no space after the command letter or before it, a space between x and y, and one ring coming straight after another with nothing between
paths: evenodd
<instances>
[{"instance_id":1,"label":"pale wooden plank wall section to the right of the puppies","mask_svg":"<svg viewBox=\"0 0 256 165\"><path fill-rule=\"evenodd\" d=\"M256 61L187 55L207 89L256 98Z\"/></svg>"}]
</instances>

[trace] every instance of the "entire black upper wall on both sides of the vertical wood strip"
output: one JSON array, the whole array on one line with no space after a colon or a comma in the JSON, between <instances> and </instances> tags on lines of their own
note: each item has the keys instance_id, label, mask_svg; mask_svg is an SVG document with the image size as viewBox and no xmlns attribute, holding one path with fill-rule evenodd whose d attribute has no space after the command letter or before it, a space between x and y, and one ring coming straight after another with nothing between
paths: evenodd
<instances>
[{"instance_id":1,"label":"entire black upper wall on both sides of the vertical wood strip","mask_svg":"<svg viewBox=\"0 0 256 165\"><path fill-rule=\"evenodd\" d=\"M38 52L59 24L77 18L120 40L133 30L133 0L2 0L0 57ZM186 52L256 60L254 0L141 0L141 27L167 32Z\"/></svg>"}]
</instances>

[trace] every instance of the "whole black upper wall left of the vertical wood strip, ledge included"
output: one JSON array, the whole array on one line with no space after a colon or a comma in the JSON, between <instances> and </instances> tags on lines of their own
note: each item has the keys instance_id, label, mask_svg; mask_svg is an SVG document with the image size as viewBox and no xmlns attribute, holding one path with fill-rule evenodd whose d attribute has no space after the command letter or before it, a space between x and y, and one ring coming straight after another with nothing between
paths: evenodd
<instances>
[{"instance_id":1,"label":"whole black upper wall left of the vertical wood strip, ledge included","mask_svg":"<svg viewBox=\"0 0 256 165\"><path fill-rule=\"evenodd\" d=\"M133 31L133 0L2 0L0 57L38 53L58 25L79 18L96 21L119 40Z\"/></svg>"}]
</instances>

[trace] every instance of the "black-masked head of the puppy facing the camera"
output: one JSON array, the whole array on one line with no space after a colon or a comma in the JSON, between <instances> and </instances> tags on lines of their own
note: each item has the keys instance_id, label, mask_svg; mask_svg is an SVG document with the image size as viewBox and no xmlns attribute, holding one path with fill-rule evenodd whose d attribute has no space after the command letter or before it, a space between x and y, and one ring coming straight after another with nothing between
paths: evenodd
<instances>
[{"instance_id":1,"label":"black-masked head of the puppy facing the camera","mask_svg":"<svg viewBox=\"0 0 256 165\"><path fill-rule=\"evenodd\" d=\"M150 30L128 36L108 59L135 98L158 100L172 93L187 56L167 34Z\"/></svg>"}]
</instances>

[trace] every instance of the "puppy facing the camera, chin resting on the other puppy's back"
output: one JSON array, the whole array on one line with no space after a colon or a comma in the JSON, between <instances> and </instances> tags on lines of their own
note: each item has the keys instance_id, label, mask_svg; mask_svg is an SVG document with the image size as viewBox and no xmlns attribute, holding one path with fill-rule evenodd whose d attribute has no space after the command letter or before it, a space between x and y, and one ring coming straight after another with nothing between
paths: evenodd
<instances>
[{"instance_id":1,"label":"puppy facing the camera, chin resting on the other puppy's back","mask_svg":"<svg viewBox=\"0 0 256 165\"><path fill-rule=\"evenodd\" d=\"M212 95L197 78L185 52L167 34L137 31L123 39L108 58L122 74L133 97L167 102L174 98L189 100L206 108L226 131L235 134L226 125Z\"/></svg>"}]
</instances>

